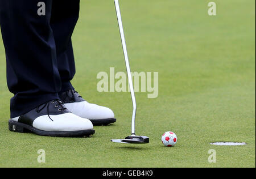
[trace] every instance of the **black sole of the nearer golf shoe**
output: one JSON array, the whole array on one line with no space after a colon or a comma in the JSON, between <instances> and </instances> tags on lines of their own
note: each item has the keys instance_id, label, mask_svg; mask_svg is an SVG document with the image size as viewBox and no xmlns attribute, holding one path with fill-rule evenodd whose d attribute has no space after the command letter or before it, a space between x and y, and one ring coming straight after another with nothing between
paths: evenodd
<instances>
[{"instance_id":1,"label":"black sole of the nearer golf shoe","mask_svg":"<svg viewBox=\"0 0 256 179\"><path fill-rule=\"evenodd\" d=\"M89 137L95 133L93 129L80 131L43 131L13 120L9 120L9 130L15 133L34 133L48 137Z\"/></svg>"}]
</instances>

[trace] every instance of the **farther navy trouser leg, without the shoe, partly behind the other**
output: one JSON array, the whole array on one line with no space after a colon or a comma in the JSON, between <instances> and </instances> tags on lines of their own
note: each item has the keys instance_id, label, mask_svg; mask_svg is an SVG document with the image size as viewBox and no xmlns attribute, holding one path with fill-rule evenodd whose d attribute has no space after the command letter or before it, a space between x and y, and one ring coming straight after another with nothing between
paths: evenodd
<instances>
[{"instance_id":1,"label":"farther navy trouser leg, without the shoe, partly behind the other","mask_svg":"<svg viewBox=\"0 0 256 179\"><path fill-rule=\"evenodd\" d=\"M79 19L79 6L79 0L54 0L52 2L50 24L56 44L61 92L74 89L70 82L76 73L71 37Z\"/></svg>"}]
</instances>

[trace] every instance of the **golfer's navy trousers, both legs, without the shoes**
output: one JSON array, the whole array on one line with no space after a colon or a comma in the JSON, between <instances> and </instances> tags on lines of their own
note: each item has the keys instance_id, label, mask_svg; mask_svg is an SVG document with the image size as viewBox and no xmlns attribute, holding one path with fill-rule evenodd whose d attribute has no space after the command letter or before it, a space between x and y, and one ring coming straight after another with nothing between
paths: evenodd
<instances>
[{"instance_id":1,"label":"golfer's navy trousers, both legs, without the shoes","mask_svg":"<svg viewBox=\"0 0 256 179\"><path fill-rule=\"evenodd\" d=\"M38 14L44 2L46 14ZM14 93L11 118L74 89L71 36L79 0L0 0L0 25L6 52L7 85Z\"/></svg>"}]
</instances>

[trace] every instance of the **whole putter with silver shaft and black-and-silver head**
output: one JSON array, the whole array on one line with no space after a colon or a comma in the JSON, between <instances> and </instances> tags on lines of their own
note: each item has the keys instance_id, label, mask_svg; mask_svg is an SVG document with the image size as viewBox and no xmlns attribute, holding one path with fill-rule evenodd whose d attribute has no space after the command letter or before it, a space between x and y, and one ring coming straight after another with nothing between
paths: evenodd
<instances>
[{"instance_id":1,"label":"whole putter with silver shaft and black-and-silver head","mask_svg":"<svg viewBox=\"0 0 256 179\"><path fill-rule=\"evenodd\" d=\"M111 141L116 143L134 143L134 144L149 143L148 137L135 135L135 116L136 116L137 106L136 106L135 93L133 88L133 79L131 78L131 70L130 70L129 58L128 58L126 42L125 42L125 33L123 32L123 24L122 24L121 12L119 8L119 2L118 0L114 0L114 2L115 2L115 11L117 12L119 31L120 31L121 40L122 40L123 54L125 56L125 65L126 65L126 71L127 71L128 80L129 80L131 100L133 101L133 116L131 118L131 135L126 137L125 139L112 139Z\"/></svg>"}]
</instances>

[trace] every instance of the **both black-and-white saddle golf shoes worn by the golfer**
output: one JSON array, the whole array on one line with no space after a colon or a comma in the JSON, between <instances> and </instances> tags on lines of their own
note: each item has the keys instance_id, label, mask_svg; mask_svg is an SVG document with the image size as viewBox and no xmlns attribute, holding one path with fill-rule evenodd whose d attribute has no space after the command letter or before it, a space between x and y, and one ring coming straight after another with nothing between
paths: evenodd
<instances>
[{"instance_id":1,"label":"both black-and-white saddle golf shoes worn by the golfer","mask_svg":"<svg viewBox=\"0 0 256 179\"><path fill-rule=\"evenodd\" d=\"M93 125L114 123L111 109L90 104L75 90L59 94L30 112L9 120L9 130L51 137L86 137L95 133Z\"/></svg>"}]
</instances>

